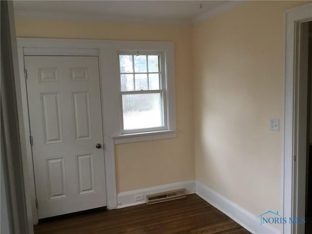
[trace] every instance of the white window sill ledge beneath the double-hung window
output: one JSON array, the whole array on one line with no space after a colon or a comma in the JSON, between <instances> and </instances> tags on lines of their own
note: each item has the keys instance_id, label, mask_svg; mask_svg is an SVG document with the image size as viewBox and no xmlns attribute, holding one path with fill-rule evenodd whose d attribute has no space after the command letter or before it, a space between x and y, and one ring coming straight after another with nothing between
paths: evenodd
<instances>
[{"instance_id":1,"label":"white window sill ledge beneath the double-hung window","mask_svg":"<svg viewBox=\"0 0 312 234\"><path fill-rule=\"evenodd\" d=\"M157 131L157 132L148 132L148 133L134 133L134 134L124 134L113 137L115 145L146 141L146 140L159 140L159 139L168 139L175 138L177 130L166 130L166 131Z\"/></svg>"}]
</instances>

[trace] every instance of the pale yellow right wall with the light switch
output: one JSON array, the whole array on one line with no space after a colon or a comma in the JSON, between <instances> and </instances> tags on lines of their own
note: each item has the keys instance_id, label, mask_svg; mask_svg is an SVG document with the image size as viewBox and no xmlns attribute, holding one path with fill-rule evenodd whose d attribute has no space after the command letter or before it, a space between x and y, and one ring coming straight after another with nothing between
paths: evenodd
<instances>
[{"instance_id":1,"label":"pale yellow right wall with the light switch","mask_svg":"<svg viewBox=\"0 0 312 234\"><path fill-rule=\"evenodd\" d=\"M284 10L304 3L251 1L193 30L196 180L254 215L281 210L269 119L283 119Z\"/></svg>"}]
</instances>

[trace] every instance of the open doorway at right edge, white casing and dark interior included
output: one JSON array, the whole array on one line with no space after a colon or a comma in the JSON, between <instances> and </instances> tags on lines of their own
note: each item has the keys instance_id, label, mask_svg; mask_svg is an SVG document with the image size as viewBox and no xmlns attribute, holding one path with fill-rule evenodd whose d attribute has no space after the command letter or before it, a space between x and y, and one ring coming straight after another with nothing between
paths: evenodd
<instances>
[{"instance_id":1,"label":"open doorway at right edge, white casing and dark interior included","mask_svg":"<svg viewBox=\"0 0 312 234\"><path fill-rule=\"evenodd\" d=\"M306 196L309 183L310 112L312 96L309 30L312 4L289 9L286 14L285 109L282 162L283 216L295 222L282 225L282 233L309 233L305 219L309 214ZM311 68L310 68L311 69ZM309 128L309 129L308 129ZM312 132L312 131L311 131ZM309 194L310 196L310 194ZM300 222L299 222L300 221ZM308 220L309 221L309 220ZM305 232L307 229L307 232Z\"/></svg>"}]
</instances>

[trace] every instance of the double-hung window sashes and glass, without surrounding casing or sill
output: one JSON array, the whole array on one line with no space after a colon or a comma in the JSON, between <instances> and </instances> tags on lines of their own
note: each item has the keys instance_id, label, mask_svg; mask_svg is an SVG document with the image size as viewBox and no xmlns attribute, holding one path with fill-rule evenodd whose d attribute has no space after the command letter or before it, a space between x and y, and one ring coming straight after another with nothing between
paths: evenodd
<instances>
[{"instance_id":1,"label":"double-hung window sashes and glass, without surrounding casing or sill","mask_svg":"<svg viewBox=\"0 0 312 234\"><path fill-rule=\"evenodd\" d=\"M122 134L168 130L164 52L119 52Z\"/></svg>"}]
</instances>

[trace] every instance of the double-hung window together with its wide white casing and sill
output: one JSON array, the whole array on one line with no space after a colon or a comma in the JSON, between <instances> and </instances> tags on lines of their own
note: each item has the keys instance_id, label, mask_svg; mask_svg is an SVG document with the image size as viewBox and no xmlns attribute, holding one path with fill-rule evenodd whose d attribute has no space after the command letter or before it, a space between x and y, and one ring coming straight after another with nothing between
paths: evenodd
<instances>
[{"instance_id":1,"label":"double-hung window together with its wide white casing and sill","mask_svg":"<svg viewBox=\"0 0 312 234\"><path fill-rule=\"evenodd\" d=\"M104 124L114 143L176 137L174 42L108 41L102 49Z\"/></svg>"}]
</instances>

